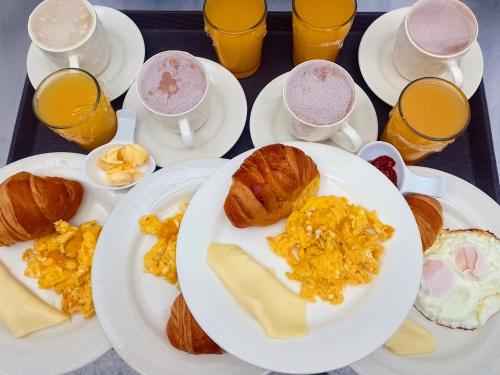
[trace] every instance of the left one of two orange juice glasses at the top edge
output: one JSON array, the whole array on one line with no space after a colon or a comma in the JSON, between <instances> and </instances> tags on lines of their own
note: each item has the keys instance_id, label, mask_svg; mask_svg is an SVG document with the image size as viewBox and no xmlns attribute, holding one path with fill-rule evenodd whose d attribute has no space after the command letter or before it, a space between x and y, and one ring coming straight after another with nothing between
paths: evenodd
<instances>
[{"instance_id":1,"label":"left one of two orange juice glasses at the top edge","mask_svg":"<svg viewBox=\"0 0 500 375\"><path fill-rule=\"evenodd\" d=\"M205 30L220 63L238 78L260 66L266 13L265 0L205 0Z\"/></svg>"}]
</instances>

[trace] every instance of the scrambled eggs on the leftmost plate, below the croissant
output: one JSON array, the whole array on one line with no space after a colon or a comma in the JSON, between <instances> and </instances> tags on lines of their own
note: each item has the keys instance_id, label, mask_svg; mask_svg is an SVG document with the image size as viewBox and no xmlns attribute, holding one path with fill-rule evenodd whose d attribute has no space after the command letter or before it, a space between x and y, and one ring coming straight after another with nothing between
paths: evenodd
<instances>
[{"instance_id":1,"label":"scrambled eggs on the leftmost plate, below the croissant","mask_svg":"<svg viewBox=\"0 0 500 375\"><path fill-rule=\"evenodd\" d=\"M95 221L74 227L59 220L54 225L55 233L36 240L24 252L24 274L38 279L40 288L62 295L63 313L81 312L90 318L95 314L90 271L102 227Z\"/></svg>"}]
</instances>

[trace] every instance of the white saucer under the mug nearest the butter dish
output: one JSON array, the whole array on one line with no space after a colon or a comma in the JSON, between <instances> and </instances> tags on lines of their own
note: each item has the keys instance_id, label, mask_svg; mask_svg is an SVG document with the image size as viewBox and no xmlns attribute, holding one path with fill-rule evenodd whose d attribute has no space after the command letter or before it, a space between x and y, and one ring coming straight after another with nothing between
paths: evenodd
<instances>
[{"instance_id":1,"label":"white saucer under the mug nearest the butter dish","mask_svg":"<svg viewBox=\"0 0 500 375\"><path fill-rule=\"evenodd\" d=\"M183 160L221 157L234 146L245 127L247 100L238 80L222 65L202 57L198 59L208 72L211 98L208 120L196 131L193 148L186 148L178 134L165 137L155 131L160 125L141 104L136 82L123 101L123 109L137 113L137 143L146 148L161 167Z\"/></svg>"}]
</instances>

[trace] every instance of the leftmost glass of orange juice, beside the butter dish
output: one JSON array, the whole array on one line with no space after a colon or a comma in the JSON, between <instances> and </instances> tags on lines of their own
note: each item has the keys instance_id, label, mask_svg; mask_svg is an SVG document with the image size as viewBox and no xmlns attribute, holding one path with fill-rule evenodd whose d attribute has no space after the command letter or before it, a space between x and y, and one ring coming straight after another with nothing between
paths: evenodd
<instances>
[{"instance_id":1,"label":"leftmost glass of orange juice, beside the butter dish","mask_svg":"<svg viewBox=\"0 0 500 375\"><path fill-rule=\"evenodd\" d=\"M38 119L87 151L109 142L116 114L102 85L90 73L64 68L47 76L33 97Z\"/></svg>"}]
</instances>

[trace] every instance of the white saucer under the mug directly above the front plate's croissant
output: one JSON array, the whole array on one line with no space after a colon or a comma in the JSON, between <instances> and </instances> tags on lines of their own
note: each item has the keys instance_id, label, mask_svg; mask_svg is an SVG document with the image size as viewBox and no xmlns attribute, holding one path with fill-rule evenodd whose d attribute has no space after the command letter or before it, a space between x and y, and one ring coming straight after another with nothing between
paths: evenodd
<instances>
[{"instance_id":1,"label":"white saucer under the mug directly above the front plate's croissant","mask_svg":"<svg viewBox=\"0 0 500 375\"><path fill-rule=\"evenodd\" d=\"M255 99L250 114L250 135L255 147L297 140L288 130L288 117L282 99L282 89L288 74L284 73L269 82ZM356 85L356 90L358 101L349 124L359 133L365 145L377 140L377 113L363 89ZM337 146L331 141L320 143Z\"/></svg>"}]
</instances>

